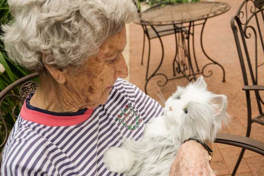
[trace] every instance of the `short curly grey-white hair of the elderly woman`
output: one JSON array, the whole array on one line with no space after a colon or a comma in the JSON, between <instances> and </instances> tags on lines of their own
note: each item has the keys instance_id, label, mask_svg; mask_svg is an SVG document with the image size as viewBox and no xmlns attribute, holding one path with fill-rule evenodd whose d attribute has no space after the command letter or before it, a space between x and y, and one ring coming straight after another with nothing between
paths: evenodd
<instances>
[{"instance_id":1,"label":"short curly grey-white hair of the elderly woman","mask_svg":"<svg viewBox=\"0 0 264 176\"><path fill-rule=\"evenodd\" d=\"M8 0L14 20L1 37L11 60L41 72L81 65L100 45L138 18L133 0ZM45 54L45 60L41 59Z\"/></svg>"}]
</instances>

